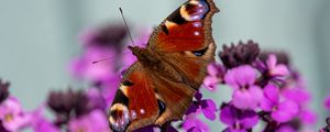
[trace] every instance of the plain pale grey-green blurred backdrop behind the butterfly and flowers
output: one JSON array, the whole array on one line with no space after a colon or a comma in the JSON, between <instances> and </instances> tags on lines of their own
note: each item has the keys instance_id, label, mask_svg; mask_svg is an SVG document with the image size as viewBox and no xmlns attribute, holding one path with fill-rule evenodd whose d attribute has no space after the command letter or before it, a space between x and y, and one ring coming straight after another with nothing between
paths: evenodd
<instances>
[{"instance_id":1,"label":"plain pale grey-green blurred backdrop behind the butterfly and flowers","mask_svg":"<svg viewBox=\"0 0 330 132\"><path fill-rule=\"evenodd\" d=\"M222 44L254 40L262 50L287 52L314 95L318 127L327 112L322 101L330 87L329 0L215 0L218 51ZM31 110L51 89L80 86L70 78L68 63L80 52L79 33L107 22L122 22L122 7L131 25L158 25L185 0L0 0L0 78L11 81L11 94ZM208 94L211 98L228 95ZM219 122L218 122L219 123ZM213 125L217 125L215 123ZM215 127L216 128L216 127ZM215 129L217 130L217 129Z\"/></svg>"}]
</instances>

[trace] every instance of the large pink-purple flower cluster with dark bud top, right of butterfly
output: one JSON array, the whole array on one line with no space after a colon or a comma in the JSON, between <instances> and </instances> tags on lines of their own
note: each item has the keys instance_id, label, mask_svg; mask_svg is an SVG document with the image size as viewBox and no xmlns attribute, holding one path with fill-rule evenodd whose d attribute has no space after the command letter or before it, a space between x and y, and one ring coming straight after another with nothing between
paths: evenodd
<instances>
[{"instance_id":1,"label":"large pink-purple flower cluster with dark bud top, right of butterfly","mask_svg":"<svg viewBox=\"0 0 330 132\"><path fill-rule=\"evenodd\" d=\"M261 52L256 43L249 41L224 45L219 57L221 63L208 66L204 84L211 91L224 85L232 89L229 102L207 110L219 112L220 121L227 124L224 132L252 132L262 122L265 128L258 131L296 132L316 123L316 113L307 107L311 96L286 54Z\"/></svg>"}]
</instances>

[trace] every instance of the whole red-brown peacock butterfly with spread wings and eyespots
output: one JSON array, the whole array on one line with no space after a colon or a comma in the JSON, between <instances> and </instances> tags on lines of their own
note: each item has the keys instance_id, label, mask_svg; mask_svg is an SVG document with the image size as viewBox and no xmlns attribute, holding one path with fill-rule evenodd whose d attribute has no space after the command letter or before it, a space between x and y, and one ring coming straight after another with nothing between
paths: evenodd
<instances>
[{"instance_id":1,"label":"whole red-brown peacock butterfly with spread wings and eyespots","mask_svg":"<svg viewBox=\"0 0 330 132\"><path fill-rule=\"evenodd\" d=\"M108 120L116 132L182 120L215 59L212 0L188 0L152 33L146 48L129 46L138 61L123 74Z\"/></svg>"}]
</instances>

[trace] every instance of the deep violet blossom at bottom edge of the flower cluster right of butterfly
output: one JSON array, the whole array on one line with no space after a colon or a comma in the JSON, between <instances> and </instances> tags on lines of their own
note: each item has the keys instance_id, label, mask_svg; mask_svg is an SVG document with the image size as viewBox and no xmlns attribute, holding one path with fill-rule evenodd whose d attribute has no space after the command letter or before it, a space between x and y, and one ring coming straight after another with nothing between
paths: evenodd
<instances>
[{"instance_id":1,"label":"deep violet blossom at bottom edge of the flower cluster right of butterfly","mask_svg":"<svg viewBox=\"0 0 330 132\"><path fill-rule=\"evenodd\" d=\"M223 105L220 121L229 125L223 132L248 132L257 124L258 117L253 110L239 110L232 105Z\"/></svg>"}]
</instances>

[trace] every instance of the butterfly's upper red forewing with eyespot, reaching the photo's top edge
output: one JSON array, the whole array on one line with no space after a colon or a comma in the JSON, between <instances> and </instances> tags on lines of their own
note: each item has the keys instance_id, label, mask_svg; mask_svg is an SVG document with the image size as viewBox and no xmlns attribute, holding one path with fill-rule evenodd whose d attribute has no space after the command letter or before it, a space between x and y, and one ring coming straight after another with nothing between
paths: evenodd
<instances>
[{"instance_id":1,"label":"butterfly's upper red forewing with eyespot, reaching the photo's top edge","mask_svg":"<svg viewBox=\"0 0 330 132\"><path fill-rule=\"evenodd\" d=\"M213 42L211 16L219 10L212 0L189 0L153 32L148 48L161 52L199 51Z\"/></svg>"}]
</instances>

